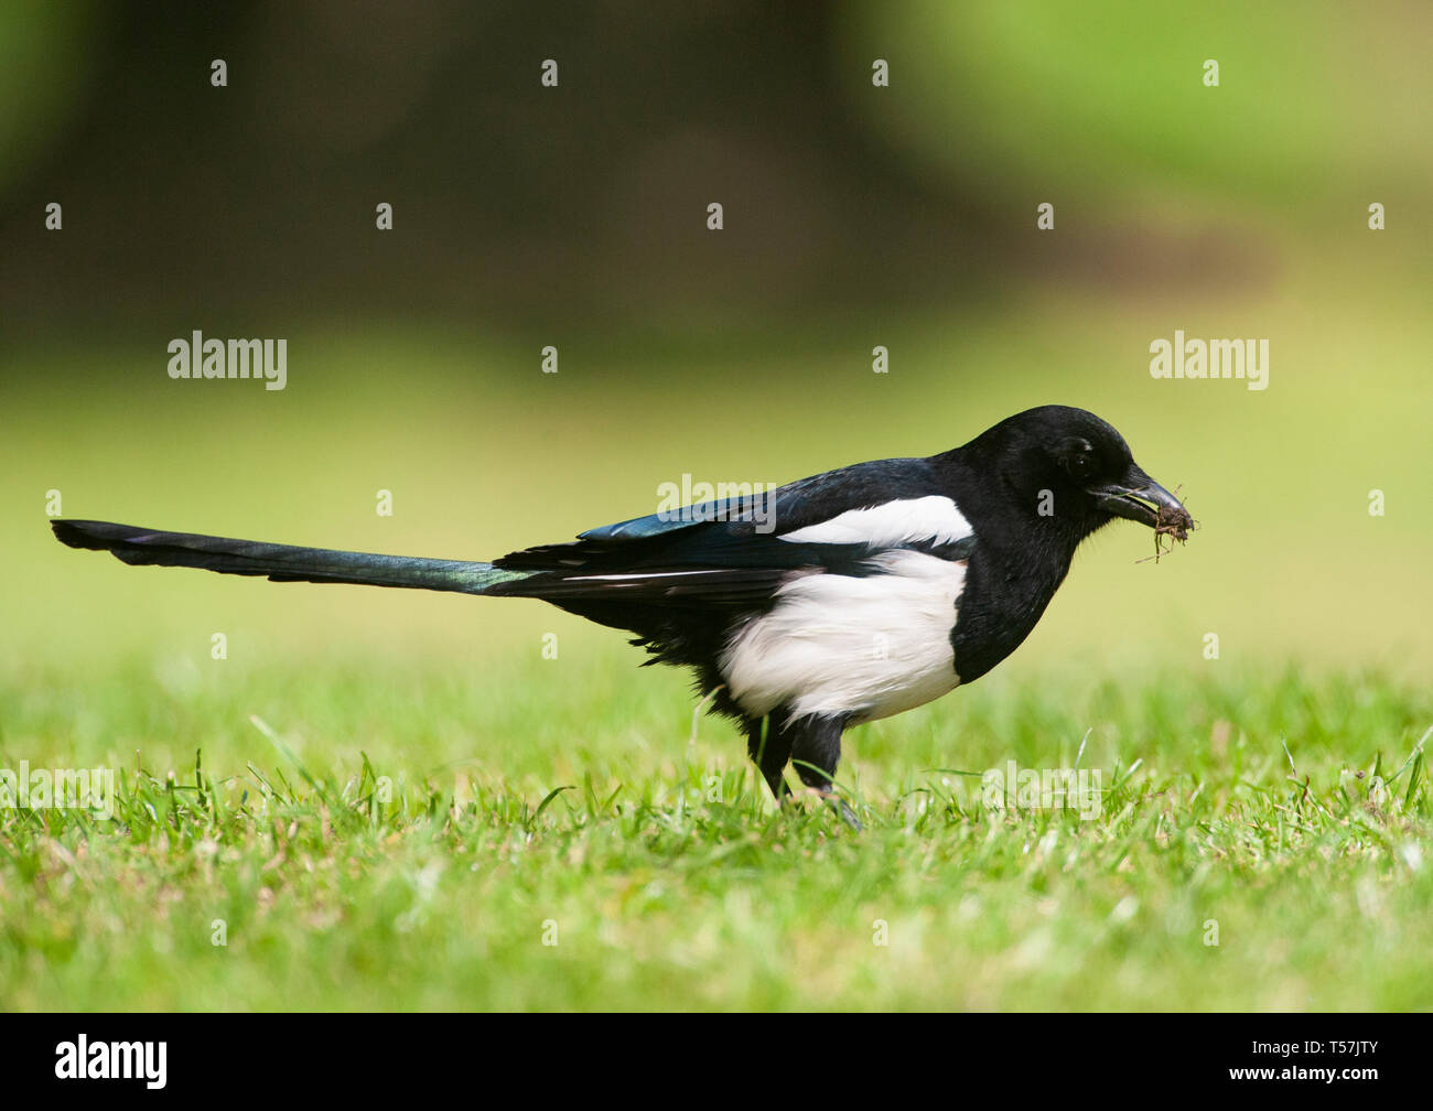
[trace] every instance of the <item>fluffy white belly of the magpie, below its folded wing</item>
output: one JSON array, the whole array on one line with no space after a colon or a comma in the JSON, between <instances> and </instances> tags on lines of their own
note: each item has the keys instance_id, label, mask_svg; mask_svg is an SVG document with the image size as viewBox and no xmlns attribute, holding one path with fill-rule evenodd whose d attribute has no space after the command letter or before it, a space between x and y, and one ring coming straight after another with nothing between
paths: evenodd
<instances>
[{"instance_id":1,"label":"fluffy white belly of the magpie, below its folded wing","mask_svg":"<svg viewBox=\"0 0 1433 1111\"><path fill-rule=\"evenodd\" d=\"M721 672L752 717L791 705L805 714L876 721L949 694L956 675L950 631L964 562L921 552L873 556L881 573L802 575L768 614L732 635Z\"/></svg>"}]
</instances>

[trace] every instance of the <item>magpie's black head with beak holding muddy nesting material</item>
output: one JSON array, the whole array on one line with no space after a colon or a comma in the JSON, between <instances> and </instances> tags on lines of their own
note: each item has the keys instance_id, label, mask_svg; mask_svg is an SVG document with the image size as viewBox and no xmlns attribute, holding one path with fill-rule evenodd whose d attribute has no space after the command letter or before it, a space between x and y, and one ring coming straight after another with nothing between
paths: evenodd
<instances>
[{"instance_id":1,"label":"magpie's black head with beak holding muddy nesting material","mask_svg":"<svg viewBox=\"0 0 1433 1111\"><path fill-rule=\"evenodd\" d=\"M1036 518L1083 539L1115 518L1185 539L1194 519L1151 479L1112 426L1083 409L1042 406L1017 413L970 447L993 456L1006 496Z\"/></svg>"}]
</instances>

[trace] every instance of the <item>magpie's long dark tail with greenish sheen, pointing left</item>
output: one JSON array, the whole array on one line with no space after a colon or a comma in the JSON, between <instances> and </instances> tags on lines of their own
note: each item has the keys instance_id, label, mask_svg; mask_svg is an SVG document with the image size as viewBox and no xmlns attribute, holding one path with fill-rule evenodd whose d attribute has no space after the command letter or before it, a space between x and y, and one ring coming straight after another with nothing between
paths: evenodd
<instances>
[{"instance_id":1,"label":"magpie's long dark tail with greenish sheen, pointing left","mask_svg":"<svg viewBox=\"0 0 1433 1111\"><path fill-rule=\"evenodd\" d=\"M107 520L52 520L56 538L70 548L110 552L135 566L202 568L225 575L267 575L272 582L351 582L417 591L492 593L533 572L503 571L461 559L335 552L287 543L229 540L188 532L158 532Z\"/></svg>"}]
</instances>

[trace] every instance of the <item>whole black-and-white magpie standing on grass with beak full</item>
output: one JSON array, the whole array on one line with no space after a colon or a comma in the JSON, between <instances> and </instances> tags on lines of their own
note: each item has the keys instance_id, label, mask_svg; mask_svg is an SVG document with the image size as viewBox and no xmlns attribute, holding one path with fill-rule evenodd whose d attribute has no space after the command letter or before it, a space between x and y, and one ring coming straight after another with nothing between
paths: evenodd
<instances>
[{"instance_id":1,"label":"whole black-and-white magpie standing on grass with beak full","mask_svg":"<svg viewBox=\"0 0 1433 1111\"><path fill-rule=\"evenodd\" d=\"M1115 518L1155 529L1156 545L1194 528L1113 427L1042 406L941 454L857 463L492 563L50 523L70 548L132 565L540 598L625 629L645 662L695 671L780 801L788 764L830 798L847 728L924 705L1010 655L1080 540Z\"/></svg>"}]
</instances>

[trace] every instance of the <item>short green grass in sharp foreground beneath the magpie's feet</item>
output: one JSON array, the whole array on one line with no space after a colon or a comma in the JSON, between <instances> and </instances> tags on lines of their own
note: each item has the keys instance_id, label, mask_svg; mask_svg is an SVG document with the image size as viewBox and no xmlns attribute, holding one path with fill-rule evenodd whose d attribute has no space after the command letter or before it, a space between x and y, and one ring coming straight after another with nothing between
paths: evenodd
<instances>
[{"instance_id":1,"label":"short green grass in sharp foreground beneath the magpie's feet","mask_svg":"<svg viewBox=\"0 0 1433 1111\"><path fill-rule=\"evenodd\" d=\"M0 767L118 804L0 810L0 1008L1433 1006L1423 691L1007 664L850 735L856 834L632 662L14 669Z\"/></svg>"}]
</instances>

